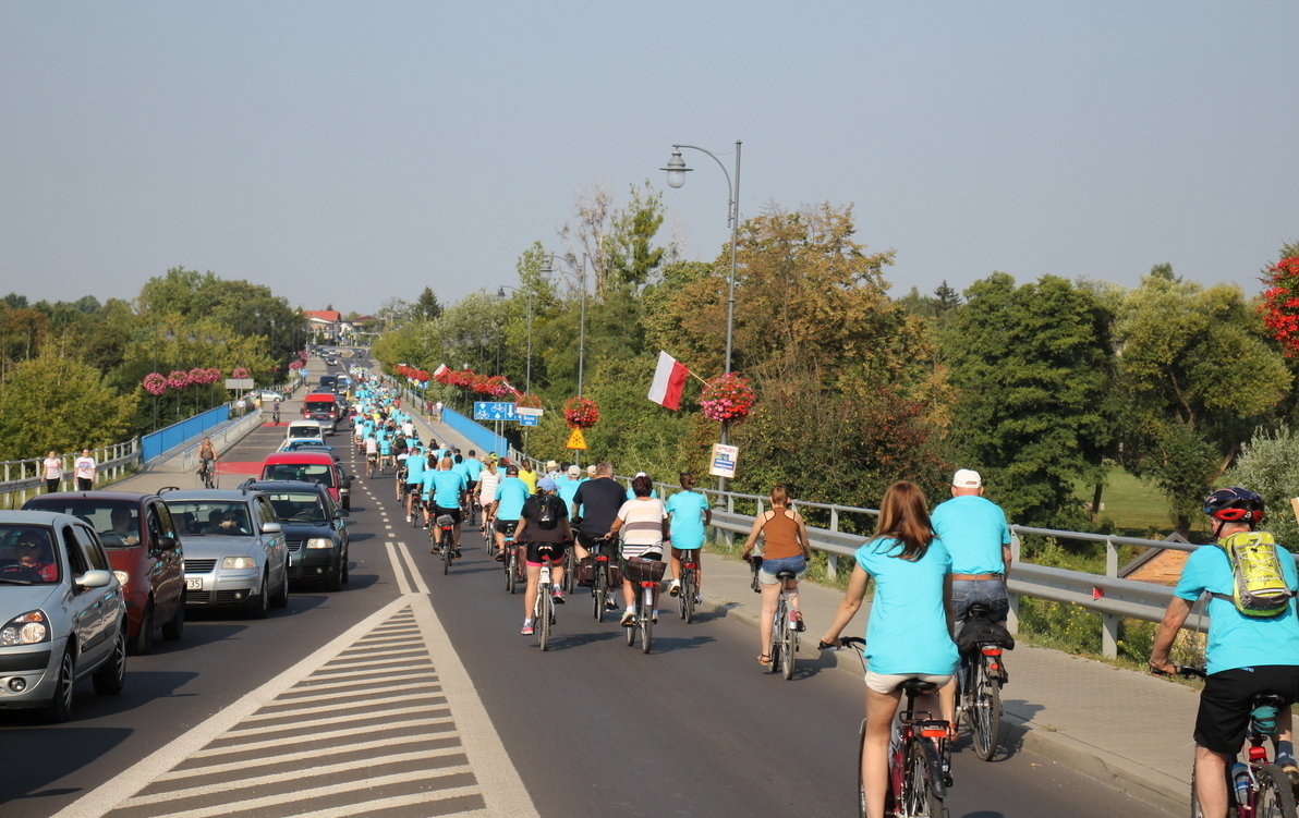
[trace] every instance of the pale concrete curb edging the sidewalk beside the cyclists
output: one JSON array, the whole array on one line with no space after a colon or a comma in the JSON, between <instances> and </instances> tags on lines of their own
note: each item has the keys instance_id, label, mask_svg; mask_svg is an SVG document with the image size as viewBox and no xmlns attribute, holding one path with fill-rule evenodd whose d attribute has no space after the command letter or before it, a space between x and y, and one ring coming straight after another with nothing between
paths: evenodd
<instances>
[{"instance_id":1,"label":"pale concrete curb edging the sidewalk beside the cyclists","mask_svg":"<svg viewBox=\"0 0 1299 818\"><path fill-rule=\"evenodd\" d=\"M744 602L709 593L701 593L700 599L705 606L712 608L712 613L746 626L757 627L759 617L746 610L751 606ZM825 651L809 652L800 645L799 656L817 661L824 667L861 676L861 663L850 651L833 651L826 656ZM1186 784L1157 770L1137 766L1129 758L1116 756L1092 744L1073 739L1050 726L1025 721L1011 713L1003 713L1002 721L1003 727L1007 728L1002 739L1003 743L1017 743L1018 749L1050 758L1169 815L1185 814L1191 805Z\"/></svg>"}]
</instances>

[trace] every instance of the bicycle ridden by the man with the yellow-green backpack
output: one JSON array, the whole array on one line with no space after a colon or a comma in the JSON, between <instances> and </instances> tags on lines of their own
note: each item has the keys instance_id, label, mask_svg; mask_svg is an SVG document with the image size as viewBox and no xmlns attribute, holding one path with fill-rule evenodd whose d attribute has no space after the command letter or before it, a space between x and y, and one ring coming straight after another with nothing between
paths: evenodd
<instances>
[{"instance_id":1,"label":"bicycle ridden by the man with the yellow-green backpack","mask_svg":"<svg viewBox=\"0 0 1299 818\"><path fill-rule=\"evenodd\" d=\"M1174 671L1185 678L1200 678L1203 667L1178 666ZM1160 674L1163 675L1163 674ZM1250 727L1246 739L1250 749L1247 761L1237 761L1226 773L1228 814L1237 818L1295 818L1295 795L1290 780L1277 765L1268 760L1264 740L1277 732L1277 710L1285 700L1273 693L1259 693L1250 702ZM1234 808L1234 809L1233 809ZM1195 792L1195 767L1191 767L1191 817L1202 818L1200 800Z\"/></svg>"}]
</instances>

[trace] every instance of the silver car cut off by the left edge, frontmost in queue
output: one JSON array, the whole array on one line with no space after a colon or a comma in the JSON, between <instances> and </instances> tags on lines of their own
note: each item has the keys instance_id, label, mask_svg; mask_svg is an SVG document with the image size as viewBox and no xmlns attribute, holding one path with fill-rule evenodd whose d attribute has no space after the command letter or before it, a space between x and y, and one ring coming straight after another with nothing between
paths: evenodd
<instances>
[{"instance_id":1,"label":"silver car cut off by the left edge, frontmost in queue","mask_svg":"<svg viewBox=\"0 0 1299 818\"><path fill-rule=\"evenodd\" d=\"M0 512L0 710L71 714L77 682L126 683L126 600L95 530L71 514Z\"/></svg>"}]
</instances>

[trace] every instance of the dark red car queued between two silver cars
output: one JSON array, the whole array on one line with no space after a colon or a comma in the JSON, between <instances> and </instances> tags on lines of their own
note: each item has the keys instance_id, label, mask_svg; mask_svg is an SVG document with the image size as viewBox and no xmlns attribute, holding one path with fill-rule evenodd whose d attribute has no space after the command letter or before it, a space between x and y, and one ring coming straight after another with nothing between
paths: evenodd
<instances>
[{"instance_id":1,"label":"dark red car queued between two silver cars","mask_svg":"<svg viewBox=\"0 0 1299 818\"><path fill-rule=\"evenodd\" d=\"M161 497L129 491L68 491L36 495L22 508L71 514L99 532L126 599L131 653L149 653L157 628L168 641L181 639L184 552Z\"/></svg>"}]
</instances>

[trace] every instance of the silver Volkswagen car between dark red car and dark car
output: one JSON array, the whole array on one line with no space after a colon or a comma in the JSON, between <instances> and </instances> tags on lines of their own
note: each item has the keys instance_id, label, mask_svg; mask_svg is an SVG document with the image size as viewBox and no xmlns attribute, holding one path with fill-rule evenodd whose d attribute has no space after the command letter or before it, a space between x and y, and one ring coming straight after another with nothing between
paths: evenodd
<instances>
[{"instance_id":1,"label":"silver Volkswagen car between dark red car and dark car","mask_svg":"<svg viewBox=\"0 0 1299 818\"><path fill-rule=\"evenodd\" d=\"M264 619L288 604L288 544L266 495L247 488L162 493L184 540L186 604Z\"/></svg>"}]
</instances>

